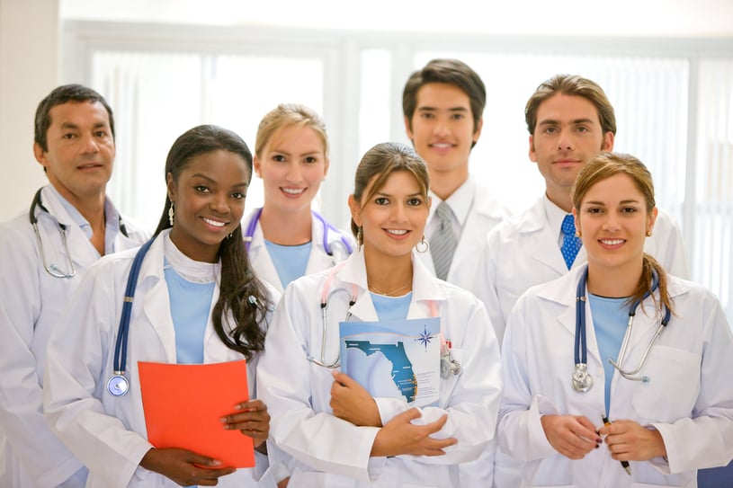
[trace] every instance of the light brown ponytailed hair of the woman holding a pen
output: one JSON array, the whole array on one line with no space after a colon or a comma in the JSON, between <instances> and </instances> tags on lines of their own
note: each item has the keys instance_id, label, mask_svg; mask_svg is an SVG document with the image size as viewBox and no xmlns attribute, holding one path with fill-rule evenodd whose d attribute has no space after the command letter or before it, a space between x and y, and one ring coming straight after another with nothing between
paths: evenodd
<instances>
[{"instance_id":1,"label":"light brown ponytailed hair of the woman holding a pen","mask_svg":"<svg viewBox=\"0 0 733 488\"><path fill-rule=\"evenodd\" d=\"M573 207L579 212L580 204L583 202L587 192L598 182L603 182L616 174L626 174L634 182L637 189L644 195L646 201L647 213L650 213L657 204L654 200L654 182L651 173L638 158L633 155L621 153L601 153L588 161L586 165L577 173L577 178L573 188L570 191L570 198L573 200ZM641 278L639 284L629 297L629 304L637 300L642 300L647 293L652 291L653 275L656 271L659 279L659 297L661 303L657 303L657 298L652 295L655 300L657 309L661 311L664 304L670 311L674 312L672 299L669 297L669 291L666 288L666 271L662 265L657 262L648 253L643 255L643 264Z\"/></svg>"}]
</instances>

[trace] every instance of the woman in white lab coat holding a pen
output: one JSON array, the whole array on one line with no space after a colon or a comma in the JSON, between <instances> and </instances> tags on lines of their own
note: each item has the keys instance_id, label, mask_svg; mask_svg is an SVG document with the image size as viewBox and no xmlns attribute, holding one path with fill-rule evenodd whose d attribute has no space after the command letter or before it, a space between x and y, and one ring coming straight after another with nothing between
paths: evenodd
<instances>
[{"instance_id":1,"label":"woman in white lab coat holding a pen","mask_svg":"<svg viewBox=\"0 0 733 488\"><path fill-rule=\"evenodd\" d=\"M733 368L729 325L711 292L666 274L643 253L646 235L657 229L643 164L599 155L576 185L574 214L588 264L531 288L509 317L499 446L525 462L522 486L694 487L697 469L733 457L733 383L723 373ZM586 269L587 284L578 289ZM641 305L627 327L636 299ZM612 314L596 308L614 300ZM585 392L572 381L582 362L574 352L577 303L585 309L594 381ZM667 307L671 319L655 337ZM624 377L608 359L626 371L640 365L630 376L648 380ZM612 423L604 426L602 415Z\"/></svg>"}]
</instances>

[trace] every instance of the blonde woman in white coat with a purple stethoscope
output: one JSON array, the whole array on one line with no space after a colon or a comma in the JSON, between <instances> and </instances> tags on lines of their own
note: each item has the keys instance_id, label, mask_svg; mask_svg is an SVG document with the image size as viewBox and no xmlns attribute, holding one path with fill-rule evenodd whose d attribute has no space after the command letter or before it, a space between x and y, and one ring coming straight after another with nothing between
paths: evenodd
<instances>
[{"instance_id":1,"label":"blonde woman in white coat with a purple stethoscope","mask_svg":"<svg viewBox=\"0 0 733 488\"><path fill-rule=\"evenodd\" d=\"M351 235L311 210L328 165L326 124L316 111L281 103L265 114L255 140L264 206L242 228L255 273L281 293L293 279L344 261L355 247Z\"/></svg>"}]
</instances>

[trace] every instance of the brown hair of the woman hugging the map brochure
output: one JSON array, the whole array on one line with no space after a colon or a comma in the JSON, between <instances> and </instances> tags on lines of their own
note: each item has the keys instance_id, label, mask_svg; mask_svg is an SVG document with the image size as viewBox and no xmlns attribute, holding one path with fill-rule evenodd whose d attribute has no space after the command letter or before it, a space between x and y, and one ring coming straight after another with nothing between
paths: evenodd
<instances>
[{"instance_id":1,"label":"brown hair of the woman hugging the map brochure","mask_svg":"<svg viewBox=\"0 0 733 488\"><path fill-rule=\"evenodd\" d=\"M420 187L420 194L427 202L427 189L430 187L430 176L427 173L427 166L422 157L417 155L415 149L398 142L384 142L373 146L362 156L362 161L356 168L356 175L353 178L353 200L360 204L362 201L368 201L377 191L384 188L387 184L389 175L398 171L404 171L415 176L417 185ZM369 186L371 180L369 194L363 196L363 192ZM363 244L359 239L359 226L356 222L351 222L353 235L359 244Z\"/></svg>"}]
</instances>

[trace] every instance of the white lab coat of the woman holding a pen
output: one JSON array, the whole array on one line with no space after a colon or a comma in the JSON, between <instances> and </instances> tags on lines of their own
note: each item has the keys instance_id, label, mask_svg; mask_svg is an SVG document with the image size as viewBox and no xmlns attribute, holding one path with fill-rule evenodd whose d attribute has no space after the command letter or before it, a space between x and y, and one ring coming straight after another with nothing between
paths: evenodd
<instances>
[{"instance_id":1,"label":"white lab coat of the woman holding a pen","mask_svg":"<svg viewBox=\"0 0 733 488\"><path fill-rule=\"evenodd\" d=\"M639 373L649 377L648 383L614 372L611 384L609 418L659 430L668 462L631 461L627 475L605 444L573 461L545 437L543 414L585 415L597 427L602 424L604 359L587 302L587 359L594 386L586 393L571 386L576 288L584 270L532 288L509 317L502 350L505 392L499 446L526 462L523 486L696 486L696 469L726 465L733 457L733 382L728 375L733 371L733 337L717 298L683 279L669 277L675 315ZM659 321L649 297L637 310L623 366L639 364Z\"/></svg>"}]
</instances>

